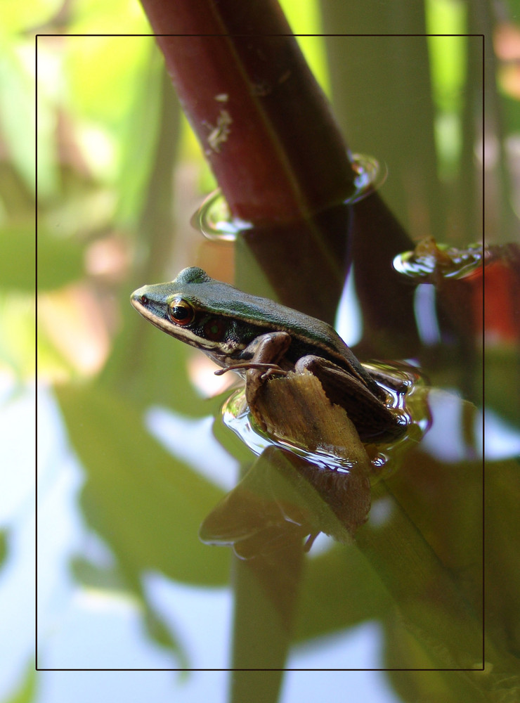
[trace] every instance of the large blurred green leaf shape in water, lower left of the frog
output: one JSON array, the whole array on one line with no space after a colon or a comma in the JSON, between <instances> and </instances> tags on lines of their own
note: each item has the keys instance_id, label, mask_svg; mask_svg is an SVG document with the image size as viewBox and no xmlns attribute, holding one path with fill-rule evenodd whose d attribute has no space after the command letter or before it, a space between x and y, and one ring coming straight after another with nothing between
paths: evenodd
<instances>
[{"instance_id":1,"label":"large blurred green leaf shape in water, lower left of the frog","mask_svg":"<svg viewBox=\"0 0 520 703\"><path fill-rule=\"evenodd\" d=\"M124 399L99 387L60 387L70 441L86 472L82 506L134 579L155 569L178 581L221 586L229 555L197 533L222 491L162 449Z\"/></svg>"}]
</instances>

